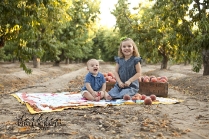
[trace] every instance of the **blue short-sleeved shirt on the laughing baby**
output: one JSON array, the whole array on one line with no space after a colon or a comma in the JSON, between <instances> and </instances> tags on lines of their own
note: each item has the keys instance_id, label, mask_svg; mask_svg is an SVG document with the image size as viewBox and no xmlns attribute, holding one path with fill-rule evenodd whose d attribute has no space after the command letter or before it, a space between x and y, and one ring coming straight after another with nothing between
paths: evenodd
<instances>
[{"instance_id":1,"label":"blue short-sleeved shirt on the laughing baby","mask_svg":"<svg viewBox=\"0 0 209 139\"><path fill-rule=\"evenodd\" d=\"M91 88L94 91L99 91L102 88L103 83L105 83L106 80L104 78L104 75L102 73L98 73L97 76L93 76L92 73L88 73L85 77L84 83L90 83ZM81 88L81 90L87 90L85 84Z\"/></svg>"}]
</instances>

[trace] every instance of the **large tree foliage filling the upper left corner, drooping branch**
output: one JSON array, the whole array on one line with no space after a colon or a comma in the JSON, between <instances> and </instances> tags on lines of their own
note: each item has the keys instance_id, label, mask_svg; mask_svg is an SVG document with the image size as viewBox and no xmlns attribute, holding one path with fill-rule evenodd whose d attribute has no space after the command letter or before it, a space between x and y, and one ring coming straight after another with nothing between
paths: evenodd
<instances>
[{"instance_id":1,"label":"large tree foliage filling the upper left corner, drooping branch","mask_svg":"<svg viewBox=\"0 0 209 139\"><path fill-rule=\"evenodd\" d=\"M41 44L47 36L43 34L50 28L43 24L43 20L52 7L48 0L3 0L0 7L1 47L10 41L8 45L12 45L9 47L13 47L14 57L26 73L31 73L25 62L37 56L40 58L44 53Z\"/></svg>"}]
</instances>

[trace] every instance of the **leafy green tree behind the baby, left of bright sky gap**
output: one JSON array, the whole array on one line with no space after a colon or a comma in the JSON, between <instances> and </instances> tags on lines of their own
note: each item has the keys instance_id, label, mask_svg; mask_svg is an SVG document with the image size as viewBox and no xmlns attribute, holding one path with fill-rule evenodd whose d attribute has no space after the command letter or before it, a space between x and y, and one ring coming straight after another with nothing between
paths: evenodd
<instances>
[{"instance_id":1,"label":"leafy green tree behind the baby, left of bright sky gap","mask_svg":"<svg viewBox=\"0 0 209 139\"><path fill-rule=\"evenodd\" d=\"M56 61L57 64L64 59L82 60L93 55L93 26L99 14L99 1L73 1L66 12L70 20L66 22L66 27L57 33L60 42L65 43L61 48L60 60Z\"/></svg>"}]
</instances>

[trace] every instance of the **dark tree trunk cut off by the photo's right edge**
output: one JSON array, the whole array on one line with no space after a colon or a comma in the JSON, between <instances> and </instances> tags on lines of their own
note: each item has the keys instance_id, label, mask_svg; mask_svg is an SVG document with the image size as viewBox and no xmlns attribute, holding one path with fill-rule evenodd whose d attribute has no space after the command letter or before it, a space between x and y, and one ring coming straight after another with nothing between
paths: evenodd
<instances>
[{"instance_id":1,"label":"dark tree trunk cut off by the photo's right edge","mask_svg":"<svg viewBox=\"0 0 209 139\"><path fill-rule=\"evenodd\" d=\"M209 49L203 50L203 76L209 75Z\"/></svg>"}]
</instances>

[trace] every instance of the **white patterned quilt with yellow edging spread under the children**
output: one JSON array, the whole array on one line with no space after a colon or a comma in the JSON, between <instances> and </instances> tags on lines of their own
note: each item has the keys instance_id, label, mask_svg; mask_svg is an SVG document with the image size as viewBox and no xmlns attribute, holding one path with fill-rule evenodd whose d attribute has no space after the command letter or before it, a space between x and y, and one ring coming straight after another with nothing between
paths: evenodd
<instances>
[{"instance_id":1,"label":"white patterned quilt with yellow edging spread under the children","mask_svg":"<svg viewBox=\"0 0 209 139\"><path fill-rule=\"evenodd\" d=\"M124 101L123 99L116 99L111 101L100 100L88 101L79 93L61 92L61 93L15 93L12 94L19 102L25 104L31 114L41 112L62 111L69 108L88 108L95 106L108 105L122 105L122 104L143 104L143 100ZM157 97L157 101L153 104L174 104L179 103L180 100L172 98Z\"/></svg>"}]
</instances>

